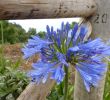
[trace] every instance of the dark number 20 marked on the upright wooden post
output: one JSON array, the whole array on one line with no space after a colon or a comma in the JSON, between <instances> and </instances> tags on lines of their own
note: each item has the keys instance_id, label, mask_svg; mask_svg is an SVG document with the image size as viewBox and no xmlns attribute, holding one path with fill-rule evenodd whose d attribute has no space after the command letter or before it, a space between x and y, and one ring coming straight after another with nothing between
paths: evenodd
<instances>
[{"instance_id":1,"label":"dark number 20 marked on the upright wooden post","mask_svg":"<svg viewBox=\"0 0 110 100\"><path fill-rule=\"evenodd\" d=\"M101 21L100 21L100 19L101 19ZM102 14L102 15L100 15L100 14L97 14L96 15L96 18L95 18L95 20L94 20L94 23L107 23L107 14L105 13L105 14Z\"/></svg>"}]
</instances>

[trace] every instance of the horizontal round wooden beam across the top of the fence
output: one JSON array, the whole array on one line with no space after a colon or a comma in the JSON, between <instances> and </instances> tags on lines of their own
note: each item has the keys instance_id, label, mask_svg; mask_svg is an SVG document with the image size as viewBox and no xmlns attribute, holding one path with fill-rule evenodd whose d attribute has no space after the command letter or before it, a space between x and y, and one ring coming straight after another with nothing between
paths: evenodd
<instances>
[{"instance_id":1,"label":"horizontal round wooden beam across the top of the fence","mask_svg":"<svg viewBox=\"0 0 110 100\"><path fill-rule=\"evenodd\" d=\"M88 17L94 0L0 0L0 19Z\"/></svg>"}]
</instances>

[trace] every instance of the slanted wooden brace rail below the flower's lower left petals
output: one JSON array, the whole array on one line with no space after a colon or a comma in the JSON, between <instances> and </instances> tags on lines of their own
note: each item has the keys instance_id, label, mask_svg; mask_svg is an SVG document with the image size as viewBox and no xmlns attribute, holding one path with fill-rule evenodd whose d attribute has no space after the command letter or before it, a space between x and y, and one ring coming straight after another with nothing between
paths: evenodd
<instances>
[{"instance_id":1,"label":"slanted wooden brace rail below the flower's lower left petals","mask_svg":"<svg viewBox=\"0 0 110 100\"><path fill-rule=\"evenodd\" d=\"M46 100L55 82L48 80L45 84L30 83L17 100Z\"/></svg>"}]
</instances>

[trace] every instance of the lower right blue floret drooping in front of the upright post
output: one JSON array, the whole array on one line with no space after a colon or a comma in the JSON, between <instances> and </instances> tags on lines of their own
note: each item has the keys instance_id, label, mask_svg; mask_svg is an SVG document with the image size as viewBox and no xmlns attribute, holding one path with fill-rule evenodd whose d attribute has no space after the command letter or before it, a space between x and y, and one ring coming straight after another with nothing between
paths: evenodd
<instances>
[{"instance_id":1,"label":"lower right blue floret drooping in front of the upright post","mask_svg":"<svg viewBox=\"0 0 110 100\"><path fill-rule=\"evenodd\" d=\"M95 86L95 87L98 86L99 81L106 72L106 65L79 62L78 65L76 66L76 69L80 73L84 81L85 87L89 92L90 86Z\"/></svg>"}]
</instances>

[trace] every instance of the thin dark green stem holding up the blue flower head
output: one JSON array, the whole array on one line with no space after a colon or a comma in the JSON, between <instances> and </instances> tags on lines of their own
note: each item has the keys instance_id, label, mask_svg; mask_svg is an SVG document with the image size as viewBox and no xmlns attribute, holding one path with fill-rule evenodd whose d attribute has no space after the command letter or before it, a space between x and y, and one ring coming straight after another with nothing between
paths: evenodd
<instances>
[{"instance_id":1,"label":"thin dark green stem holding up the blue flower head","mask_svg":"<svg viewBox=\"0 0 110 100\"><path fill-rule=\"evenodd\" d=\"M65 84L64 84L64 100L68 98L68 67L65 66Z\"/></svg>"}]
</instances>

